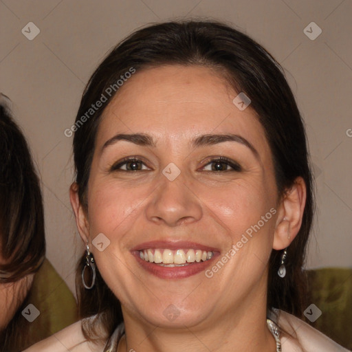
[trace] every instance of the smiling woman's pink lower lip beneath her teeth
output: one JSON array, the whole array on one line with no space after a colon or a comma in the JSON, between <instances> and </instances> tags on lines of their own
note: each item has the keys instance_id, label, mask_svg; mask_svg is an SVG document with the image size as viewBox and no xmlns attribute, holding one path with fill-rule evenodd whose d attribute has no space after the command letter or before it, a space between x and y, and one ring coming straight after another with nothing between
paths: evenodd
<instances>
[{"instance_id":1,"label":"smiling woman's pink lower lip beneath her teeth","mask_svg":"<svg viewBox=\"0 0 352 352\"><path fill-rule=\"evenodd\" d=\"M140 258L140 252L135 252L133 254L135 259L137 259L137 262L147 272L150 272L158 278L188 278L192 275L199 274L199 272L206 270L206 268L211 265L212 261L217 256L217 254L214 254L212 259L208 259L207 261L202 261L199 263L191 263L189 265L185 265L184 267L163 267L161 265L144 261L144 259Z\"/></svg>"}]
</instances>

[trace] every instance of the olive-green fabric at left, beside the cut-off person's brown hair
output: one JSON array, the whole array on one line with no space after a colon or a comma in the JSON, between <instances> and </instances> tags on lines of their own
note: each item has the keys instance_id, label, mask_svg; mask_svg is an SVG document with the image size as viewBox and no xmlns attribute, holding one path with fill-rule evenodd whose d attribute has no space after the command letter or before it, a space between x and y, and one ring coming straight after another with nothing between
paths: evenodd
<instances>
[{"instance_id":1,"label":"olive-green fabric at left, beside the cut-off person's brown hair","mask_svg":"<svg viewBox=\"0 0 352 352\"><path fill-rule=\"evenodd\" d=\"M30 323L31 344L78 320L74 295L47 259L34 276L28 303L40 311L38 318Z\"/></svg>"}]
</instances>

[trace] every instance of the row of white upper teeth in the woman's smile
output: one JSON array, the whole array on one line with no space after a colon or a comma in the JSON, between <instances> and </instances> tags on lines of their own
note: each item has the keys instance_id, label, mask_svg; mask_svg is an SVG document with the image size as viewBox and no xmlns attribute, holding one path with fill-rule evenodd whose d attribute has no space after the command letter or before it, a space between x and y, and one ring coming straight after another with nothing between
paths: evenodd
<instances>
[{"instance_id":1,"label":"row of white upper teeth in the woman's smile","mask_svg":"<svg viewBox=\"0 0 352 352\"><path fill-rule=\"evenodd\" d=\"M205 250L140 250L140 258L144 261L150 261L151 263L167 267L184 266L195 262L199 263L212 259L212 256L214 256L213 252Z\"/></svg>"}]
</instances>

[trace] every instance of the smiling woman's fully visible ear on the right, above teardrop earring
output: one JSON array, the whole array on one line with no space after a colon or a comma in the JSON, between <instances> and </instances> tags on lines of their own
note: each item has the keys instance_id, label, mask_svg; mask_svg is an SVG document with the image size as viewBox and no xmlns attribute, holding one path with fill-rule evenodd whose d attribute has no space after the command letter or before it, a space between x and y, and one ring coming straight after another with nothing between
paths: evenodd
<instances>
[{"instance_id":1,"label":"smiling woman's fully visible ear on the right, above teardrop earring","mask_svg":"<svg viewBox=\"0 0 352 352\"><path fill-rule=\"evenodd\" d=\"M287 248L300 230L307 197L307 187L302 177L297 177L294 185L286 190L278 208L274 232L274 250Z\"/></svg>"}]
</instances>

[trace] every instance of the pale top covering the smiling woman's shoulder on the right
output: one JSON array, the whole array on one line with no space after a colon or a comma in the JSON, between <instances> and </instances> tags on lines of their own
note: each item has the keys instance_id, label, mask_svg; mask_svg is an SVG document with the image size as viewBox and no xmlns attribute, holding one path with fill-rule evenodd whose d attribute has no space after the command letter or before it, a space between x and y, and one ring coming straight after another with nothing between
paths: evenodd
<instances>
[{"instance_id":1,"label":"pale top covering the smiling woman's shoulder on the right","mask_svg":"<svg viewBox=\"0 0 352 352\"><path fill-rule=\"evenodd\" d=\"M278 326L285 331L281 338L283 352L349 352L303 320L278 311Z\"/></svg>"}]
</instances>

